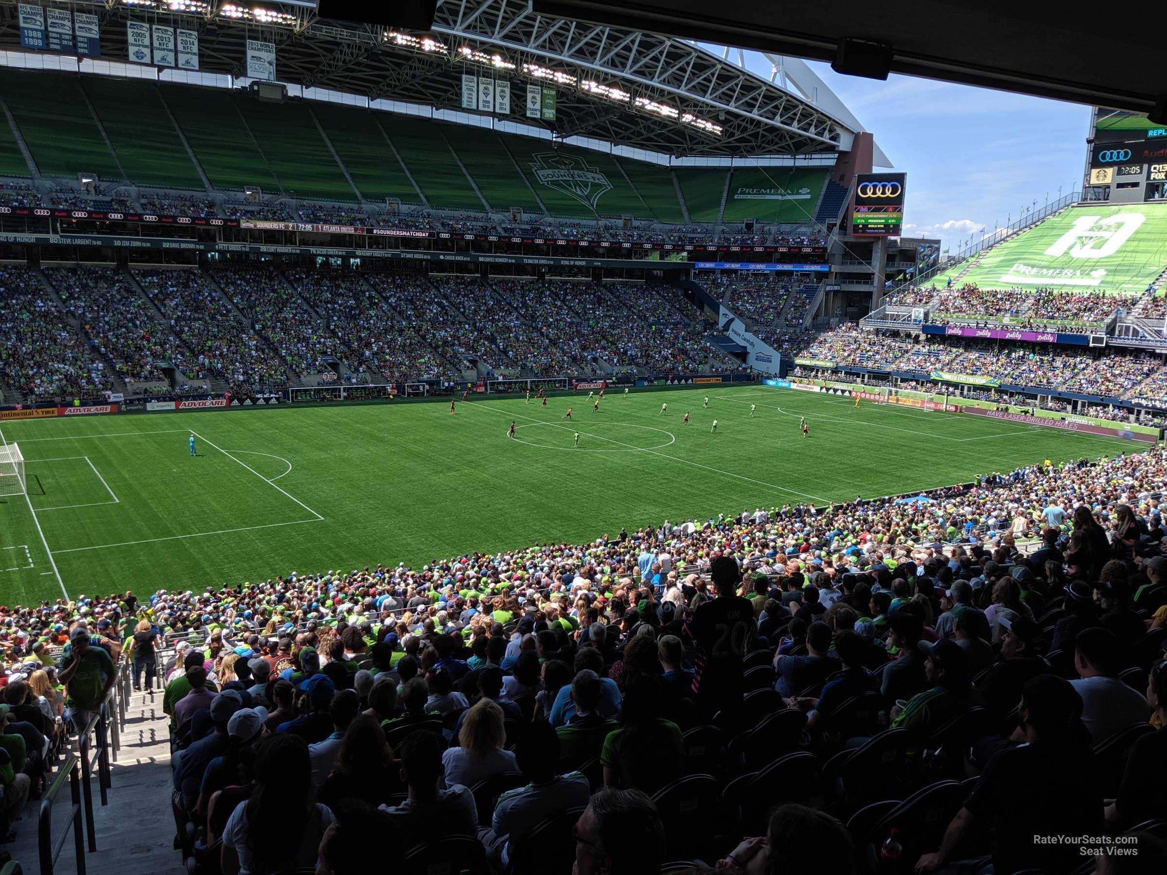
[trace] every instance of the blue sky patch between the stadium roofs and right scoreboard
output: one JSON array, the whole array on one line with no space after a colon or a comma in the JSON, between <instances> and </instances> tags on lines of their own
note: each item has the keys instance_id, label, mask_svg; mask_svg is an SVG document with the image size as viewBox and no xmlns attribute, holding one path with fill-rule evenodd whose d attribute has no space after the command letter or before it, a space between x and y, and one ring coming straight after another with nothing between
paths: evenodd
<instances>
[{"instance_id":1,"label":"blue sky patch between the stadium roofs and right scoreboard","mask_svg":"<svg viewBox=\"0 0 1167 875\"><path fill-rule=\"evenodd\" d=\"M750 69L769 74L754 55ZM761 62L757 65L756 62ZM908 174L904 233L939 237L957 252L994 223L1040 206L1058 186L1082 184L1090 107L946 82L890 76L887 82L815 72Z\"/></svg>"}]
</instances>

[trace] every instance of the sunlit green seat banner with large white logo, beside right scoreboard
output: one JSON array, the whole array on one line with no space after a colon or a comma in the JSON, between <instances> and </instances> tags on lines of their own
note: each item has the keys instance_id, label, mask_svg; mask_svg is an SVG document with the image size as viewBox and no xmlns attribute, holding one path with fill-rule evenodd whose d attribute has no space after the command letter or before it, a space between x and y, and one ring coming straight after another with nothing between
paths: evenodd
<instances>
[{"instance_id":1,"label":"sunlit green seat banner with large white logo, beside right scoreboard","mask_svg":"<svg viewBox=\"0 0 1167 875\"><path fill-rule=\"evenodd\" d=\"M1167 204L1088 204L1049 217L981 256L981 288L1141 294L1167 267Z\"/></svg>"}]
</instances>

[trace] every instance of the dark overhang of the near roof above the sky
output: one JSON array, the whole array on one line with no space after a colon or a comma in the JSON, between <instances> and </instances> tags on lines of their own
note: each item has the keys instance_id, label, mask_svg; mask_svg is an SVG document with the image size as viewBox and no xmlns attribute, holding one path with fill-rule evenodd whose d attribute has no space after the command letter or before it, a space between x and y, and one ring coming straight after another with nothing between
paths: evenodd
<instances>
[{"instance_id":1,"label":"dark overhang of the near roof above the sky","mask_svg":"<svg viewBox=\"0 0 1167 875\"><path fill-rule=\"evenodd\" d=\"M1135 112L1153 112L1158 103L1155 120L1167 123L1162 0L1130 0L1110 26L1099 26L1105 10L1018 0L532 2L545 14L819 61L836 61L843 41L861 41L872 65L886 63L886 71Z\"/></svg>"}]
</instances>

